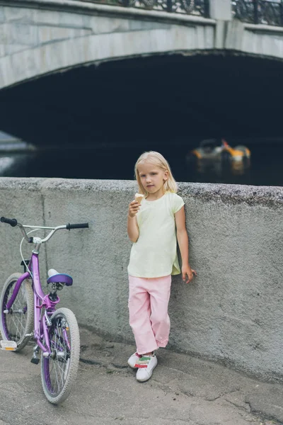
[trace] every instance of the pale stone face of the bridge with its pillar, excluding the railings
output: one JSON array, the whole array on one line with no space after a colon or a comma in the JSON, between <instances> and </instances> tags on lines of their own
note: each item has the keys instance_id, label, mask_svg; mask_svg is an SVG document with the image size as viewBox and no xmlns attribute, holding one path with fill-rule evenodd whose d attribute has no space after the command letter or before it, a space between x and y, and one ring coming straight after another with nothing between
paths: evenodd
<instances>
[{"instance_id":1,"label":"pale stone face of the bridge with its pillar, excluding the railings","mask_svg":"<svg viewBox=\"0 0 283 425\"><path fill-rule=\"evenodd\" d=\"M283 28L231 20L230 0L210 3L215 19L88 1L0 0L0 89L70 67L171 52L282 59Z\"/></svg>"}]
</instances>

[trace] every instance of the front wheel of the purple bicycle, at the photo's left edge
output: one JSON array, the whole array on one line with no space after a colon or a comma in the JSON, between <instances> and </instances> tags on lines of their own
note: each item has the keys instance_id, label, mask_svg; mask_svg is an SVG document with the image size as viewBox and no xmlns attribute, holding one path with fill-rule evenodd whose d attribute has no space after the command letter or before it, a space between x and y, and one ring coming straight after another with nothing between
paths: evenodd
<instances>
[{"instance_id":1,"label":"front wheel of the purple bicycle, at the photo's left edge","mask_svg":"<svg viewBox=\"0 0 283 425\"><path fill-rule=\"evenodd\" d=\"M21 288L18 291L15 301L7 314L6 303L13 293L16 281L21 277L21 273L13 273L4 283L0 296L0 332L1 338L5 341L16 341L17 348L14 351L20 351L26 344L28 338L26 334L33 331L33 289L28 280L23 280Z\"/></svg>"}]
</instances>

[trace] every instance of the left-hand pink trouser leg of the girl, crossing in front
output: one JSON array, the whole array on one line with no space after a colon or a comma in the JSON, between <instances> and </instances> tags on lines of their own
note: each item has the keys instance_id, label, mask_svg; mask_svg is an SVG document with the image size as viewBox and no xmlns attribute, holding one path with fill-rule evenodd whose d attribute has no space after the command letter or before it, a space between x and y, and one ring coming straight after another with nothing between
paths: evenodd
<instances>
[{"instance_id":1,"label":"left-hand pink trouser leg of the girl, crossing in front","mask_svg":"<svg viewBox=\"0 0 283 425\"><path fill-rule=\"evenodd\" d=\"M151 328L151 307L146 278L129 276L129 324L134 333L137 353L156 350L156 339Z\"/></svg>"}]
</instances>

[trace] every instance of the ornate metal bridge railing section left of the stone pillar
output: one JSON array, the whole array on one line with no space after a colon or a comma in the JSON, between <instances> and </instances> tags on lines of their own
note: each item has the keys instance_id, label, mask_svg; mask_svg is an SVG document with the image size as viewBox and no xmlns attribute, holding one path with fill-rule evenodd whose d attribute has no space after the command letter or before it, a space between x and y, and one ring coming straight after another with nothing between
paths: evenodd
<instances>
[{"instance_id":1,"label":"ornate metal bridge railing section left of the stone pillar","mask_svg":"<svg viewBox=\"0 0 283 425\"><path fill-rule=\"evenodd\" d=\"M83 0L82 0L83 1ZM86 1L86 0L85 0ZM90 0L88 0L90 1ZM209 18L209 0L91 0L93 3L125 6Z\"/></svg>"}]
</instances>

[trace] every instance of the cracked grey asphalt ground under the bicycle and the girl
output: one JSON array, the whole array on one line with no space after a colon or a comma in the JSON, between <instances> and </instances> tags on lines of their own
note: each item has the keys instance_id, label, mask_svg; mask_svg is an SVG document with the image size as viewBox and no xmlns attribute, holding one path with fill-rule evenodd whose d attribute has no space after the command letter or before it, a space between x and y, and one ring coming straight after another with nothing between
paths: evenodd
<instances>
[{"instance_id":1,"label":"cracked grey asphalt ground under the bicycle and the girl","mask_svg":"<svg viewBox=\"0 0 283 425\"><path fill-rule=\"evenodd\" d=\"M45 399L40 365L23 353L0 352L0 425L283 424L283 385L160 350L151 380L127 367L133 346L81 330L76 387L60 406Z\"/></svg>"}]
</instances>

